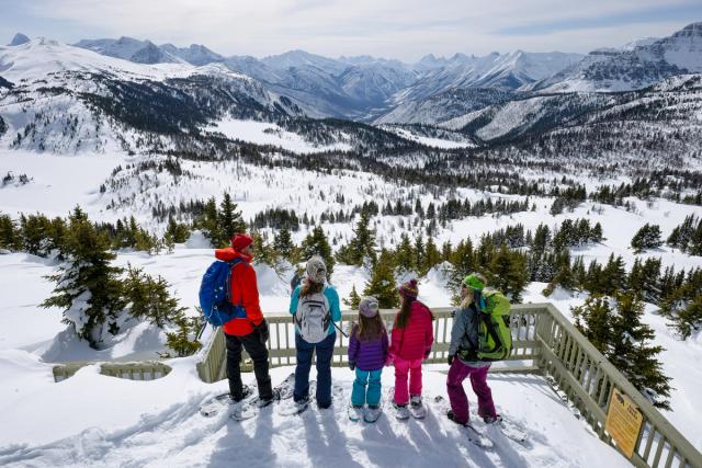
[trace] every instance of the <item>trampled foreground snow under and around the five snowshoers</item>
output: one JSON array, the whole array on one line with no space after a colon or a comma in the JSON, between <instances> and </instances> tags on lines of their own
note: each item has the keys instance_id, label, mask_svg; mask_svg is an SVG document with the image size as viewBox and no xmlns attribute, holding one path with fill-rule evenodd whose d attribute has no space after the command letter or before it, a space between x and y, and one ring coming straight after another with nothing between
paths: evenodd
<instances>
[{"instance_id":1,"label":"trampled foreground snow under and around the five snowshoers","mask_svg":"<svg viewBox=\"0 0 702 468\"><path fill-rule=\"evenodd\" d=\"M301 415L284 416L276 407L287 401L241 423L224 413L205 419L199 404L226 391L226 381L200 381L193 358L169 364L173 372L152 381L106 377L90 366L54 384L46 364L26 353L2 351L0 370L22 378L0 390L5 421L13 427L0 432L0 463L7 467L225 467L237 460L246 460L247 467L627 466L536 376L490 377L498 411L524 427L530 438L522 446L490 432L496 448L485 450L431 406L423 421L397 421L387 403L375 424L349 421L346 406L353 374L344 368L332 369L333 383L344 393L332 410L320 411L313 403ZM424 370L427 400L445 395L445 366L432 367ZM292 370L272 369L273 381L282 381ZM244 376L245 383L252 378ZM392 385L393 372L386 368L383 386ZM469 399L475 407L472 393Z\"/></svg>"}]
</instances>

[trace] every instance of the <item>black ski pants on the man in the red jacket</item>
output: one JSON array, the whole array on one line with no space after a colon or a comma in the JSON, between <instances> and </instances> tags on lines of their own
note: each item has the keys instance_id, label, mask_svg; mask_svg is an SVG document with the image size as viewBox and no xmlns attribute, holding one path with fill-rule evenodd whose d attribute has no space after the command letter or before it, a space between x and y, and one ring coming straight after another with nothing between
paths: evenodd
<instances>
[{"instance_id":1,"label":"black ski pants on the man in the red jacket","mask_svg":"<svg viewBox=\"0 0 702 468\"><path fill-rule=\"evenodd\" d=\"M253 331L244 336L235 336L224 334L227 339L227 377L229 378L229 392L235 400L241 399L241 346L249 353L253 361L253 374L259 387L259 397L261 399L273 398L273 389L271 387L271 376L268 373L268 347L265 343L261 343L258 331Z\"/></svg>"}]
</instances>

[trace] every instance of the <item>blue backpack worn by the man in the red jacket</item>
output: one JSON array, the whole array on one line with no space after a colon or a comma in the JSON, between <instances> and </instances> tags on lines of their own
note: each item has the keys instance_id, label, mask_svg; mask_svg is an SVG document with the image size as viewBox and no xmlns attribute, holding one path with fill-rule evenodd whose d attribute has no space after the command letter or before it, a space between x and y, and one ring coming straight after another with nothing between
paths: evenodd
<instances>
[{"instance_id":1,"label":"blue backpack worn by the man in the red jacket","mask_svg":"<svg viewBox=\"0 0 702 468\"><path fill-rule=\"evenodd\" d=\"M234 319L246 319L244 306L231 304L231 270L240 259L231 262L217 260L207 269L200 285L200 307L205 320L222 327Z\"/></svg>"}]
</instances>

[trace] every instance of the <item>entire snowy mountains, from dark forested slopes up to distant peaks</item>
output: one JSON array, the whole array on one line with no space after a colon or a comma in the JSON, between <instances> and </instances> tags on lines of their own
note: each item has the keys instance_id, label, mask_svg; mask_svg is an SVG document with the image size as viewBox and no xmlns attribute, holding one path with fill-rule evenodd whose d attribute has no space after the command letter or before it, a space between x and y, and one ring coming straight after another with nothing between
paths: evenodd
<instances>
[{"instance_id":1,"label":"entire snowy mountains, from dark forested slopes up to distant peaks","mask_svg":"<svg viewBox=\"0 0 702 468\"><path fill-rule=\"evenodd\" d=\"M135 151L145 145L162 150L185 139L192 144L213 128L244 128L227 119L253 119L274 125L271 132L279 135L297 135L291 138L307 141L308 149L395 152L430 140L441 148L532 141L629 106L639 112L636 118L618 115L632 134L687 118L682 147L689 148L699 141L701 91L675 83L677 77L697 83L701 72L702 23L587 56L428 55L411 65L303 50L225 57L202 45L179 48L128 37L70 46L18 34L0 47L0 138L11 148L56 152L111 146ZM661 96L681 107L639 105L664 102ZM395 130L389 124L441 128ZM271 132L248 140L268 144ZM438 135L449 144L437 141Z\"/></svg>"}]
</instances>

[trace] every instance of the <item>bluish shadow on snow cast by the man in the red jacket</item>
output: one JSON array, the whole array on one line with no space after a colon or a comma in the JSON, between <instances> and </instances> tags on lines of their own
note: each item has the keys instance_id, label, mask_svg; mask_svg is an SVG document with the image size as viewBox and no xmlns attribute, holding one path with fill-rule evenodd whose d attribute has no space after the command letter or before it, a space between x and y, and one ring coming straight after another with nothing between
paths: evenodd
<instances>
[{"instance_id":1,"label":"bluish shadow on snow cast by the man in the red jacket","mask_svg":"<svg viewBox=\"0 0 702 468\"><path fill-rule=\"evenodd\" d=\"M276 465L279 460L271 449L274 427L273 412L267 408L250 420L256 424L253 435L249 435L250 426L247 425L247 421L228 421L227 432L217 441L207 466L230 468L239 466L240 460L247 460L247 468L268 468Z\"/></svg>"}]
</instances>

